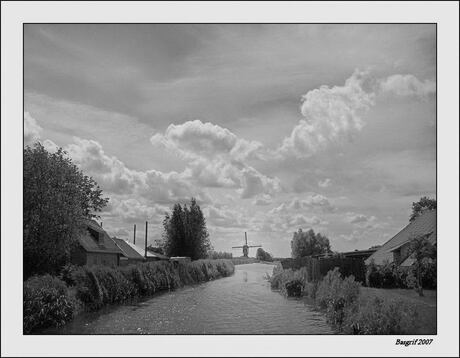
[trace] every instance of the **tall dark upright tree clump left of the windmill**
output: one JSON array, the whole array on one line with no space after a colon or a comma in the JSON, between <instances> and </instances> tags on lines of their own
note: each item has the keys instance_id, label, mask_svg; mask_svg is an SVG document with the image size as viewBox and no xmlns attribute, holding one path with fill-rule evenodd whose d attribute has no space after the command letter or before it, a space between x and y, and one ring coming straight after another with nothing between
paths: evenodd
<instances>
[{"instance_id":1,"label":"tall dark upright tree clump left of the windmill","mask_svg":"<svg viewBox=\"0 0 460 358\"><path fill-rule=\"evenodd\" d=\"M206 258L212 249L206 220L194 198L190 207L175 204L163 220L164 250L168 256L188 256L192 260Z\"/></svg>"}]
</instances>

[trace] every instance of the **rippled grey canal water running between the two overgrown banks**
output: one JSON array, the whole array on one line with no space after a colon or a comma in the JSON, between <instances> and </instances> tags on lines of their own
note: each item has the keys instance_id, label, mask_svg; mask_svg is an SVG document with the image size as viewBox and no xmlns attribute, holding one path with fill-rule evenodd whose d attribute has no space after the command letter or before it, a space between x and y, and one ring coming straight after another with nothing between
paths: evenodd
<instances>
[{"instance_id":1,"label":"rippled grey canal water running between the two overgrown banks","mask_svg":"<svg viewBox=\"0 0 460 358\"><path fill-rule=\"evenodd\" d=\"M273 266L235 266L235 274L81 315L45 334L333 334L322 314L286 299L264 279Z\"/></svg>"}]
</instances>

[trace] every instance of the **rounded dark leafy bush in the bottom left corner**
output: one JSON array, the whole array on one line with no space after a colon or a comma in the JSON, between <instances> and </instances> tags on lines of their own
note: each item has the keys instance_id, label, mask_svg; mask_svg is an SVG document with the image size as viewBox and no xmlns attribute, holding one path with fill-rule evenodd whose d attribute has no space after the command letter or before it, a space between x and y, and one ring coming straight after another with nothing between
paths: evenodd
<instances>
[{"instance_id":1,"label":"rounded dark leafy bush in the bottom left corner","mask_svg":"<svg viewBox=\"0 0 460 358\"><path fill-rule=\"evenodd\" d=\"M75 307L63 281L50 275L31 277L24 282L24 333L63 325L73 317Z\"/></svg>"}]
</instances>

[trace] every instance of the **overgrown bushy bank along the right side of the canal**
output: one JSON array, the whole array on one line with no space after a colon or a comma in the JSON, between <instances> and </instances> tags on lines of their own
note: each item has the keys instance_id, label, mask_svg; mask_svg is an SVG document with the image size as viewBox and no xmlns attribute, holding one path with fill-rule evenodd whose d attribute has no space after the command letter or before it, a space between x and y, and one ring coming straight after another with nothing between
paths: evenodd
<instances>
[{"instance_id":1,"label":"overgrown bushy bank along the right side of the canal","mask_svg":"<svg viewBox=\"0 0 460 358\"><path fill-rule=\"evenodd\" d=\"M343 278L338 269L320 281L308 281L305 268L274 269L270 283L287 296L306 297L326 315L328 322L346 334L435 334L436 327L423 327L423 309L404 296L391 298L362 287L353 276ZM386 291L380 290L378 291ZM435 309L435 308L434 308ZM431 325L432 326L432 325Z\"/></svg>"}]
</instances>

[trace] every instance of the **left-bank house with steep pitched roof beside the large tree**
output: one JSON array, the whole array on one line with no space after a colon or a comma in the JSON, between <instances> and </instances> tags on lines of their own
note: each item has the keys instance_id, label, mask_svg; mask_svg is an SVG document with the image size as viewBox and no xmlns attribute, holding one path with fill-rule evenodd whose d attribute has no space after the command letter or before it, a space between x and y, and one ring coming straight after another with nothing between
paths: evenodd
<instances>
[{"instance_id":1,"label":"left-bank house with steep pitched roof beside the large tree","mask_svg":"<svg viewBox=\"0 0 460 358\"><path fill-rule=\"evenodd\" d=\"M123 251L94 220L86 220L86 230L78 237L78 245L71 254L75 265L119 266Z\"/></svg>"}]
</instances>

